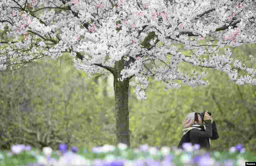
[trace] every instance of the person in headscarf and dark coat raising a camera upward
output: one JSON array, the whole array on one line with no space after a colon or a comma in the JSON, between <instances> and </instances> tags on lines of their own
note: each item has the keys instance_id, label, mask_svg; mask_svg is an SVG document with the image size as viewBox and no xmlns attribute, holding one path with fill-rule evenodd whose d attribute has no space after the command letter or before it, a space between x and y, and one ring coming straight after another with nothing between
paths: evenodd
<instances>
[{"instance_id":1,"label":"person in headscarf and dark coat raising a camera upward","mask_svg":"<svg viewBox=\"0 0 256 166\"><path fill-rule=\"evenodd\" d=\"M184 135L180 140L178 148L183 149L183 143L199 144L201 148L210 148L210 140L218 139L216 124L209 116L208 112L205 112L204 118L201 117L201 113L192 112L189 113L183 123Z\"/></svg>"}]
</instances>

